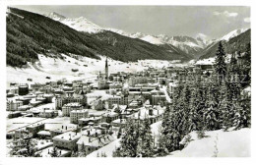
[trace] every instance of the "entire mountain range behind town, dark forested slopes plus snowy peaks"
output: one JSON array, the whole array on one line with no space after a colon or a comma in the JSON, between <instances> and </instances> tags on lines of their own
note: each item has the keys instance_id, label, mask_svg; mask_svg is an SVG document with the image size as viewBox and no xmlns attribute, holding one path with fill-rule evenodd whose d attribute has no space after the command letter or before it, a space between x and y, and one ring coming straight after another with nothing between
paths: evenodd
<instances>
[{"instance_id":1,"label":"entire mountain range behind town, dark forested slopes plus snowy peaks","mask_svg":"<svg viewBox=\"0 0 256 165\"><path fill-rule=\"evenodd\" d=\"M231 31L215 40L203 33L196 38L128 33L121 29L99 27L83 17L69 19L54 12L42 16L16 8L8 8L6 21L7 65L14 67L36 61L37 54L61 57L61 53L90 58L108 56L123 62L142 59L185 62L215 56L215 45L220 40L232 45L250 41L250 36L243 34L248 31L246 29ZM248 38L231 43L233 38L242 34Z\"/></svg>"}]
</instances>

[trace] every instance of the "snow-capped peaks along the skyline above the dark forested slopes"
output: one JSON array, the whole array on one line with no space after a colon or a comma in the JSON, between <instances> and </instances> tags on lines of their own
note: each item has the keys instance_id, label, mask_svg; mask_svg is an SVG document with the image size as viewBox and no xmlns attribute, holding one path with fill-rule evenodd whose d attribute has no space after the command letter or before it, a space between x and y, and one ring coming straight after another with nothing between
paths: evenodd
<instances>
[{"instance_id":1,"label":"snow-capped peaks along the skyline above the dark forested slopes","mask_svg":"<svg viewBox=\"0 0 256 165\"><path fill-rule=\"evenodd\" d=\"M220 40L228 41L230 38L237 36L248 29L248 28L235 29L225 34L223 37L217 38L217 39L211 39L209 36L207 36L204 33L198 33L194 38L191 36L168 36L165 34L153 35L153 34L146 34L142 32L129 33L122 29L116 29L112 27L99 27L93 22L83 17L76 18L76 19L68 19L55 12L50 13L48 15L44 15L44 16L79 31L97 33L97 32L102 32L104 30L109 30L127 37L139 38L156 45L167 44L167 45L175 46L180 50L182 50L183 52L195 57L197 57L197 55L200 54L200 52L206 49L209 45L216 43Z\"/></svg>"}]
</instances>

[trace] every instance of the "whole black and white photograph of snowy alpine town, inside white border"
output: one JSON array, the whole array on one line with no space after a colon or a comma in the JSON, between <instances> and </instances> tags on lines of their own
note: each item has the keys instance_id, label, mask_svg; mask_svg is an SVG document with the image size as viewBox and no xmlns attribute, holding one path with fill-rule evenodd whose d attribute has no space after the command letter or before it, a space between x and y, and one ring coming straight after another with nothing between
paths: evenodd
<instances>
[{"instance_id":1,"label":"whole black and white photograph of snowy alpine town, inside white border","mask_svg":"<svg viewBox=\"0 0 256 165\"><path fill-rule=\"evenodd\" d=\"M251 10L6 5L4 156L250 158Z\"/></svg>"}]
</instances>

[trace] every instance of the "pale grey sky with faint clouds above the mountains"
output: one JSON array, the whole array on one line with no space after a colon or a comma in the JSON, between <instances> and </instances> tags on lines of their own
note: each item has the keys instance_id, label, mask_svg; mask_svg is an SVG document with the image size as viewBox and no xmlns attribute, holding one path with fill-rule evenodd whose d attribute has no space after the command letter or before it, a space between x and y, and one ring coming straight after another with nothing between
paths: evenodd
<instances>
[{"instance_id":1,"label":"pale grey sky with faint clouds above the mountains","mask_svg":"<svg viewBox=\"0 0 256 165\"><path fill-rule=\"evenodd\" d=\"M245 6L13 6L38 14L56 12L66 18L85 17L99 27L127 32L219 38L250 27Z\"/></svg>"}]
</instances>

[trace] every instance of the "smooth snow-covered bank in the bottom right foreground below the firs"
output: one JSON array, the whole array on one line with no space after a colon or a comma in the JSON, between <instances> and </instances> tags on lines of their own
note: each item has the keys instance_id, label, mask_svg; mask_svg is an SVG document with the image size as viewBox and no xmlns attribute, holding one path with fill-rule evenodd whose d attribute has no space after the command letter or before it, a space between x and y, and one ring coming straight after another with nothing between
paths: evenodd
<instances>
[{"instance_id":1,"label":"smooth snow-covered bank in the bottom right foreground below the firs","mask_svg":"<svg viewBox=\"0 0 256 165\"><path fill-rule=\"evenodd\" d=\"M224 132L206 132L207 138L197 138L192 132L192 141L182 150L171 152L167 157L249 157L251 155L250 129ZM182 141L181 141L182 142Z\"/></svg>"}]
</instances>

